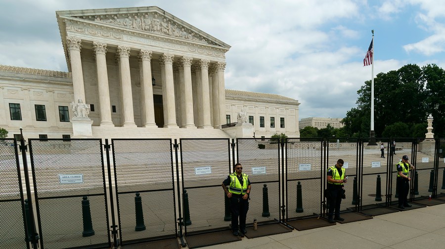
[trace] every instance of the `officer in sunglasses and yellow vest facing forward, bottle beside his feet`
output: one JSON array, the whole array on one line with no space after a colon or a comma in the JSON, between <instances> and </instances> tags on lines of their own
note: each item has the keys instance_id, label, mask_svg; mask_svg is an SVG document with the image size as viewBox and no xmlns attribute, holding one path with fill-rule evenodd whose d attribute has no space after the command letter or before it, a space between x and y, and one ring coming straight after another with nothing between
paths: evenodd
<instances>
[{"instance_id":1,"label":"officer in sunglasses and yellow vest facing forward, bottle beside his feet","mask_svg":"<svg viewBox=\"0 0 445 249\"><path fill-rule=\"evenodd\" d=\"M238 236L238 216L239 216L239 230L243 234L246 231L246 215L249 210L249 194L250 181L249 177L242 173L243 167L241 164L235 164L235 172L230 174L227 179L223 181L223 189L225 195L230 199L230 211L232 213L232 231L233 235ZM229 188L227 189L227 186Z\"/></svg>"}]
</instances>

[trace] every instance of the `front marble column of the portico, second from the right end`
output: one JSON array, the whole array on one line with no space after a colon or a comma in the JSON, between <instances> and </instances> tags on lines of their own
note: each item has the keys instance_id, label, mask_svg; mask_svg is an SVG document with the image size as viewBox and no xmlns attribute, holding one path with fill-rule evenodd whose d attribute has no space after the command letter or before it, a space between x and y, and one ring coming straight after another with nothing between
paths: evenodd
<instances>
[{"instance_id":1,"label":"front marble column of the portico, second from the right end","mask_svg":"<svg viewBox=\"0 0 445 249\"><path fill-rule=\"evenodd\" d=\"M212 129L210 112L210 90L209 90L209 60L201 59L201 91L202 91L202 128Z\"/></svg>"}]
</instances>

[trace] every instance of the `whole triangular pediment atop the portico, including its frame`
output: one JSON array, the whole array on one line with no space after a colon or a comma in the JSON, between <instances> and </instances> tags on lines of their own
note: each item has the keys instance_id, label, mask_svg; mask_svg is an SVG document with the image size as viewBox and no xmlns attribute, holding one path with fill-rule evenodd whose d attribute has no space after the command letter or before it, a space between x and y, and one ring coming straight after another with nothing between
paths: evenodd
<instances>
[{"instance_id":1,"label":"whole triangular pediment atop the portico, including its frame","mask_svg":"<svg viewBox=\"0 0 445 249\"><path fill-rule=\"evenodd\" d=\"M150 35L169 36L205 45L220 46L229 49L223 41L182 21L163 9L150 7L109 8L56 11L58 18L78 18L94 22L99 26L112 26ZM80 21L79 20L79 21Z\"/></svg>"}]
</instances>

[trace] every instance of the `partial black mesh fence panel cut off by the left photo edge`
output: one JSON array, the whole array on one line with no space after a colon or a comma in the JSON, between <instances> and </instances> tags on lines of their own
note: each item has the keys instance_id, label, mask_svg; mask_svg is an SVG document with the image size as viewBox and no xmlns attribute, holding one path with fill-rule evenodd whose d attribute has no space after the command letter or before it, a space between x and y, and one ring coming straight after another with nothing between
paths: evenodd
<instances>
[{"instance_id":1,"label":"partial black mesh fence panel cut off by the left photo edge","mask_svg":"<svg viewBox=\"0 0 445 249\"><path fill-rule=\"evenodd\" d=\"M0 140L0 248L29 249L18 156L15 139Z\"/></svg>"}]
</instances>

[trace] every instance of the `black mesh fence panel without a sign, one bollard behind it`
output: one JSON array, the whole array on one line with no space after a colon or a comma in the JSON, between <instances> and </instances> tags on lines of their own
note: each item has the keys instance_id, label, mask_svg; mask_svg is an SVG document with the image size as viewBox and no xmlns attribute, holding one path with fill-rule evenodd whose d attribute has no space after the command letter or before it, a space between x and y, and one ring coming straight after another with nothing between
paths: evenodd
<instances>
[{"instance_id":1,"label":"black mesh fence panel without a sign, one bollard behind it","mask_svg":"<svg viewBox=\"0 0 445 249\"><path fill-rule=\"evenodd\" d=\"M121 244L177 235L171 139L112 139Z\"/></svg>"}]
</instances>

